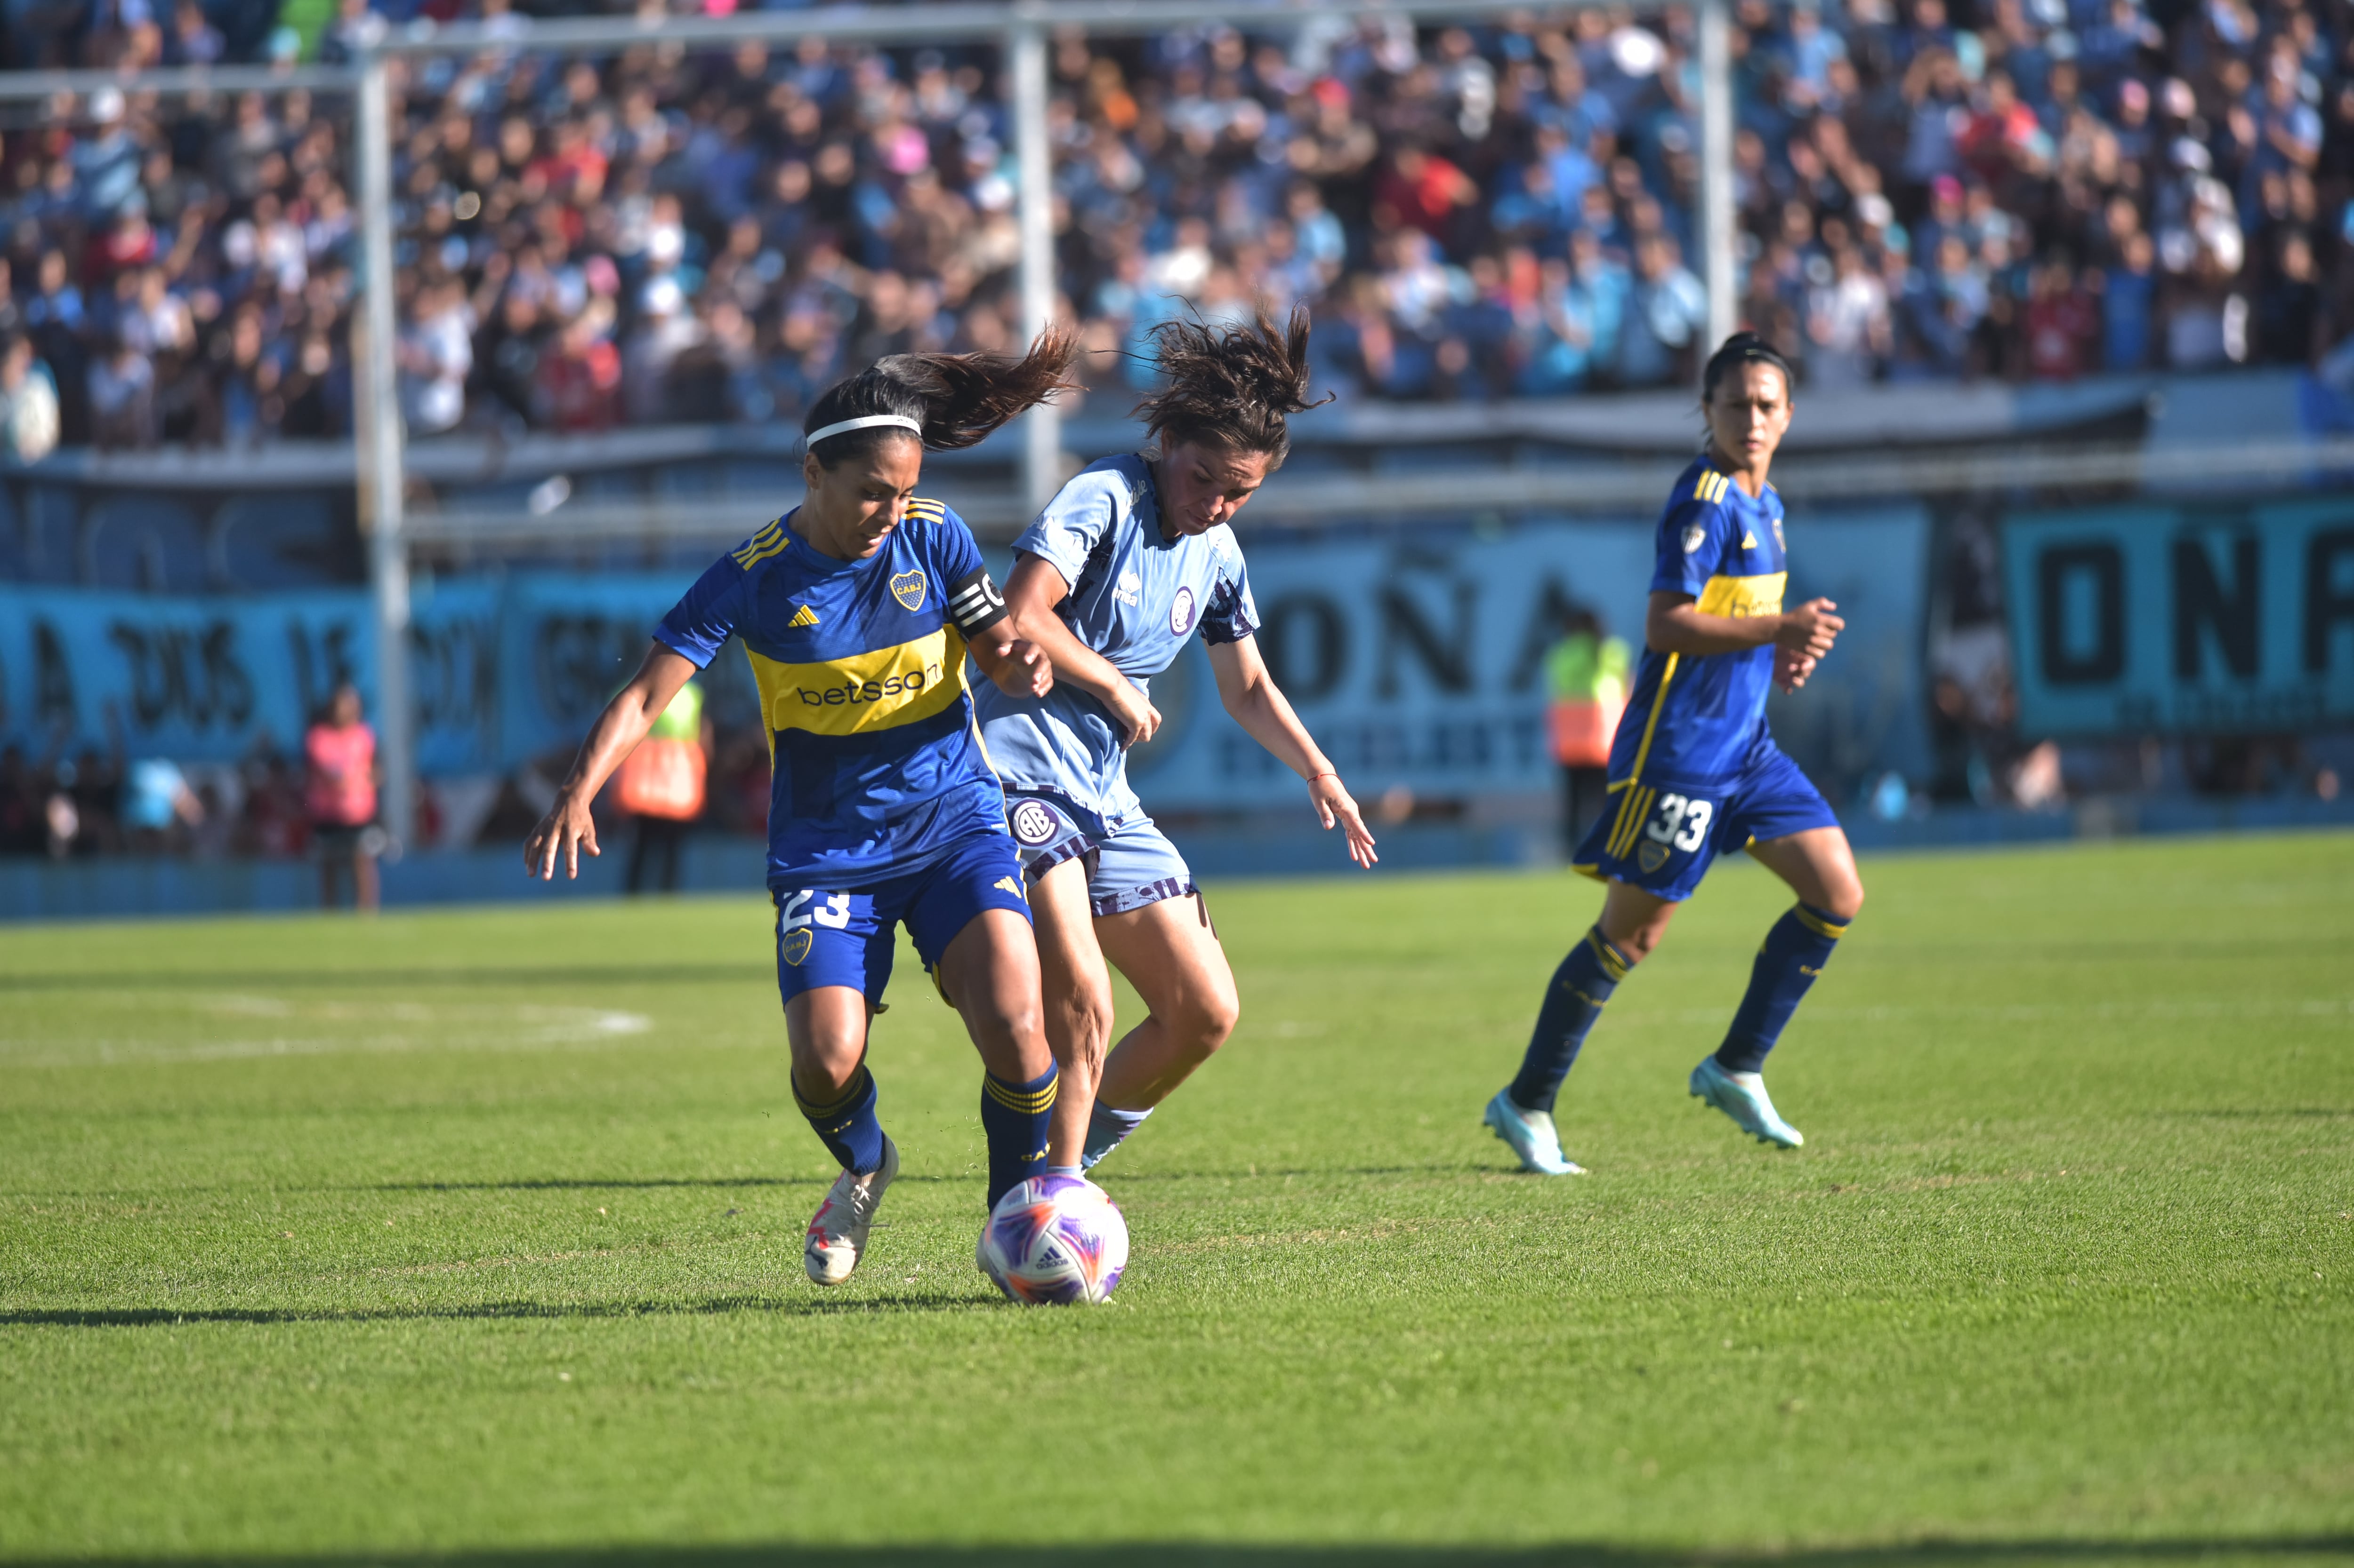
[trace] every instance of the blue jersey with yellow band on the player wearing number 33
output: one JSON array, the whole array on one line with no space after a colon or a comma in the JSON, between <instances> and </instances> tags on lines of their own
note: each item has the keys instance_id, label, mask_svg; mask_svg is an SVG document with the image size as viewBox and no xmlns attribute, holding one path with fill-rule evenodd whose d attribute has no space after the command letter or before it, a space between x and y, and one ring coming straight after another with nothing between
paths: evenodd
<instances>
[{"instance_id":1,"label":"blue jersey with yellow band on the player wearing number 33","mask_svg":"<svg viewBox=\"0 0 2354 1568\"><path fill-rule=\"evenodd\" d=\"M1695 461L1669 491L1655 541L1653 592L1688 592L1707 616L1777 616L1787 581L1782 496L1749 496ZM1733 778L1766 738L1773 646L1740 654L1643 649L1610 745L1610 788L1704 785Z\"/></svg>"}]
</instances>

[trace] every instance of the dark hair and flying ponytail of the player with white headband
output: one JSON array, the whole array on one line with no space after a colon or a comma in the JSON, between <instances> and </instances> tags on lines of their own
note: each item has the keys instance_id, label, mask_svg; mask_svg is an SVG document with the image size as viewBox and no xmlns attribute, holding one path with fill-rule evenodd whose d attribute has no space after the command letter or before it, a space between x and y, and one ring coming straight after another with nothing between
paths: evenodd
<instances>
[{"instance_id":1,"label":"dark hair and flying ponytail of the player with white headband","mask_svg":"<svg viewBox=\"0 0 2354 1568\"><path fill-rule=\"evenodd\" d=\"M923 423L923 430L869 425L829 435L810 447L824 468L836 468L850 456L866 456L902 435L916 435L932 451L972 447L1015 414L1073 386L1066 381L1073 360L1078 360L1078 329L1069 324L1040 331L1019 360L1008 355L890 355L850 381L836 381L826 388L826 395L810 404L800 430L807 435L845 418L876 414L899 414Z\"/></svg>"}]
</instances>

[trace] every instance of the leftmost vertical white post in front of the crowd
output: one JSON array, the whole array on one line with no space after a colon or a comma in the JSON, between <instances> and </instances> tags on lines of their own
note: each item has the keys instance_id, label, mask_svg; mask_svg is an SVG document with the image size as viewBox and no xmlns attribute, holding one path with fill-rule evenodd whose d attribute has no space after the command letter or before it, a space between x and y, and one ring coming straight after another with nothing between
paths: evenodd
<instances>
[{"instance_id":1,"label":"leftmost vertical white post in front of the crowd","mask_svg":"<svg viewBox=\"0 0 2354 1568\"><path fill-rule=\"evenodd\" d=\"M367 597L377 630L377 762L381 816L393 844L417 842L417 712L410 703L410 550L403 536L400 381L393 369L393 127L388 59L360 61L353 115L360 162L360 320L365 411L360 520L367 524Z\"/></svg>"}]
</instances>

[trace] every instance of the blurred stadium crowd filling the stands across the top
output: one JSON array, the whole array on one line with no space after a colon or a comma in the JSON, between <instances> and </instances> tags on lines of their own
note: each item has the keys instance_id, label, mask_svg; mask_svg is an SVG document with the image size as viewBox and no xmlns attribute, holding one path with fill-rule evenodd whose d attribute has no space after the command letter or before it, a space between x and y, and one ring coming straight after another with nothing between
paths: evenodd
<instances>
[{"instance_id":1,"label":"blurred stadium crowd filling the stands across the top","mask_svg":"<svg viewBox=\"0 0 2354 1568\"><path fill-rule=\"evenodd\" d=\"M414 9L7 7L14 66L341 59ZM527 31L501 0L424 9ZM2316 364L2354 322L2349 16L1737 0L1742 310L1817 388ZM414 66L412 430L786 418L876 355L1012 346L993 71L824 42ZM1688 12L1057 40L1059 282L1095 383L1135 378L1109 350L1156 320L1250 301L1311 303L1351 395L1688 378L1693 75ZM49 110L0 141L0 451L346 430L341 108Z\"/></svg>"}]
</instances>

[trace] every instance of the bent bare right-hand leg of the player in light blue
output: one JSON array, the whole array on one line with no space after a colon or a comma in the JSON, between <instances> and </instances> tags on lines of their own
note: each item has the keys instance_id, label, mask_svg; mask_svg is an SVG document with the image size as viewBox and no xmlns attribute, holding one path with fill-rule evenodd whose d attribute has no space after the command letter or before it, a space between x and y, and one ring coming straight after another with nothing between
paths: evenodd
<instances>
[{"instance_id":1,"label":"bent bare right-hand leg of the player in light blue","mask_svg":"<svg viewBox=\"0 0 2354 1568\"><path fill-rule=\"evenodd\" d=\"M1104 1058L1097 1098L1109 1110L1146 1112L1233 1034L1241 1018L1233 969L1210 931L1201 893L1106 914L1095 933L1146 1009L1144 1023Z\"/></svg>"}]
</instances>

